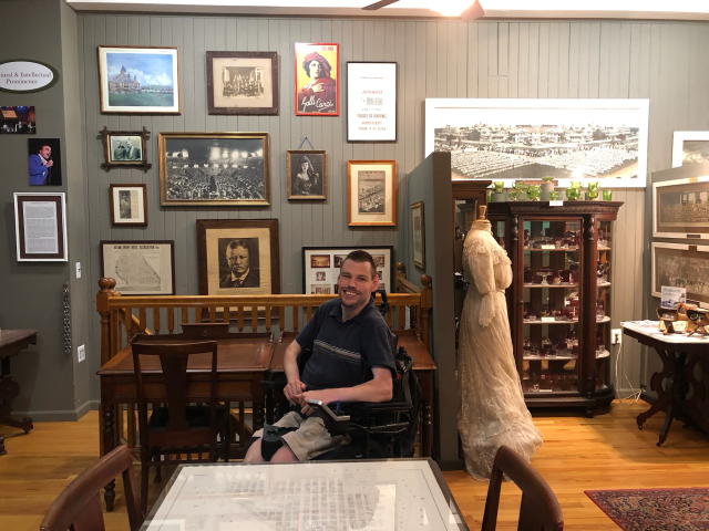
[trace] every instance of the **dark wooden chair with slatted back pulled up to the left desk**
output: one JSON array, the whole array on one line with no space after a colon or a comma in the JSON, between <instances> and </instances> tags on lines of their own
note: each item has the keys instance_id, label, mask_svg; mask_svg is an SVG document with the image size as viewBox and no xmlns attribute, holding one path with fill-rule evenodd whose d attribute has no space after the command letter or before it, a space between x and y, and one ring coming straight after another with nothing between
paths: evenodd
<instances>
[{"instance_id":1,"label":"dark wooden chair with slatted back pulled up to the left desk","mask_svg":"<svg viewBox=\"0 0 709 531\"><path fill-rule=\"evenodd\" d=\"M135 382L137 387L137 416L141 442L141 509L147 510L147 473L151 466L177 465L182 454L188 461L204 461L202 454L209 452L208 461L217 456L217 435L222 437L222 456L229 459L229 405L217 405L217 342L163 342L155 336L138 335L132 346ZM207 405L187 405L187 365L189 356L212 355L210 371L205 375L208 394ZM148 372L141 368L141 356L157 356L162 366L161 383L167 397L166 406L153 407L147 417L148 402L146 388L155 392L156 383L151 382ZM146 361L146 364L148 362ZM208 378L208 379L207 379ZM193 455L198 457L193 459ZM175 459L169 456L175 455ZM167 457L167 459L163 459ZM153 462L153 459L155 461ZM160 470L160 468L158 468ZM156 475L156 481L160 477Z\"/></svg>"}]
</instances>

